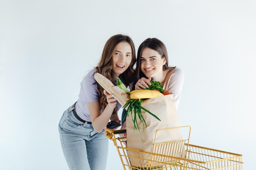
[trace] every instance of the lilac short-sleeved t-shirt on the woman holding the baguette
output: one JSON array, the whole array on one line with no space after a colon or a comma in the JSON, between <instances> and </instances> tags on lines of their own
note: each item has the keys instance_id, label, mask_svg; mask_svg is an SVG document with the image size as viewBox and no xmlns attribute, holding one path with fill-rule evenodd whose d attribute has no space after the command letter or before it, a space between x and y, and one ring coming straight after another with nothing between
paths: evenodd
<instances>
[{"instance_id":1,"label":"lilac short-sleeved t-shirt on the woman holding the baguette","mask_svg":"<svg viewBox=\"0 0 256 170\"><path fill-rule=\"evenodd\" d=\"M81 119L85 121L92 121L88 111L87 102L97 102L99 101L100 97L98 93L98 83L94 79L95 73L96 70L93 69L83 78L80 84L80 93L76 103L76 113ZM117 102L117 108L118 110L121 108L121 104L119 104L119 102Z\"/></svg>"}]
</instances>

